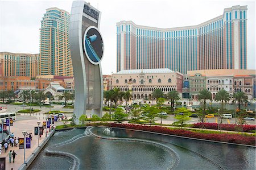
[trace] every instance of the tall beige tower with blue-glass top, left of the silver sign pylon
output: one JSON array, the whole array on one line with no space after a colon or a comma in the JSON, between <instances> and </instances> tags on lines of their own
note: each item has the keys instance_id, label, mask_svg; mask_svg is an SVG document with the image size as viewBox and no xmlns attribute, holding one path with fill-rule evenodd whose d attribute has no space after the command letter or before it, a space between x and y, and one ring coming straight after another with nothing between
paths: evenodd
<instances>
[{"instance_id":1,"label":"tall beige tower with blue-glass top, left of the silver sign pylon","mask_svg":"<svg viewBox=\"0 0 256 170\"><path fill-rule=\"evenodd\" d=\"M73 76L69 47L69 13L46 10L40 29L40 74Z\"/></svg>"}]
</instances>

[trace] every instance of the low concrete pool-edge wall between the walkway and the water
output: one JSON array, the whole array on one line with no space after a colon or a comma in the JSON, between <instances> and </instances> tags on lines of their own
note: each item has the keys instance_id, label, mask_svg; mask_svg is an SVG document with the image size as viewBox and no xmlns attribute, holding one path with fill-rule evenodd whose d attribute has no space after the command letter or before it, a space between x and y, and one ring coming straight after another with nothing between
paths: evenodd
<instances>
[{"instance_id":1,"label":"low concrete pool-edge wall between the walkway and the water","mask_svg":"<svg viewBox=\"0 0 256 170\"><path fill-rule=\"evenodd\" d=\"M30 164L35 160L36 156L40 153L42 148L47 144L48 140L51 138L51 136L54 134L55 129L53 129L51 132L48 132L48 136L39 144L39 147L36 147L36 149L32 152L30 156L28 156L26 163L22 164L19 167L19 170L26 170Z\"/></svg>"}]
</instances>

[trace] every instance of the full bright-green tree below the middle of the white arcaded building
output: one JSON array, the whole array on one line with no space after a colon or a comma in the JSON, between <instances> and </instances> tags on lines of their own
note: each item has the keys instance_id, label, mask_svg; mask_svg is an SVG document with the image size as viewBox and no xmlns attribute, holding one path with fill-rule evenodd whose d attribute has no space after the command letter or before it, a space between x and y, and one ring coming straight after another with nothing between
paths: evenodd
<instances>
[{"instance_id":1,"label":"full bright-green tree below the middle of the white arcaded building","mask_svg":"<svg viewBox=\"0 0 256 170\"><path fill-rule=\"evenodd\" d=\"M145 121L150 123L150 126L155 122L155 117L157 116L158 109L156 106L144 105L144 107L142 107L142 117Z\"/></svg>"}]
</instances>

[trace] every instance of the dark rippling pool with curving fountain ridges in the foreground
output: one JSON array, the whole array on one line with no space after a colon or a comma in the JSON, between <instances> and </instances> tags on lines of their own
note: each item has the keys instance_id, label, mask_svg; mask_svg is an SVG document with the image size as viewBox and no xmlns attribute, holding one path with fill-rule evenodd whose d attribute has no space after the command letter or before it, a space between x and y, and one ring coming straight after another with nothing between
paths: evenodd
<instances>
[{"instance_id":1,"label":"dark rippling pool with curving fountain ridges in the foreground","mask_svg":"<svg viewBox=\"0 0 256 170\"><path fill-rule=\"evenodd\" d=\"M28 169L255 169L255 147L93 126L55 132Z\"/></svg>"}]
</instances>

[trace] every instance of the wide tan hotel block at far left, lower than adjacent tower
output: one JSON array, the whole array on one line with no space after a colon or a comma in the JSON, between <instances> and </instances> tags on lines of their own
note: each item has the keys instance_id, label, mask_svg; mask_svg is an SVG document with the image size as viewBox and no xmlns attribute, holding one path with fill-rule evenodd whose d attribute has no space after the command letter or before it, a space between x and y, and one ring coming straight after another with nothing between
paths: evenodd
<instances>
[{"instance_id":1,"label":"wide tan hotel block at far left, lower than adjacent tower","mask_svg":"<svg viewBox=\"0 0 256 170\"><path fill-rule=\"evenodd\" d=\"M0 52L0 77L39 74L39 54Z\"/></svg>"}]
</instances>

